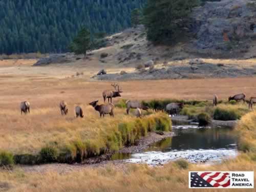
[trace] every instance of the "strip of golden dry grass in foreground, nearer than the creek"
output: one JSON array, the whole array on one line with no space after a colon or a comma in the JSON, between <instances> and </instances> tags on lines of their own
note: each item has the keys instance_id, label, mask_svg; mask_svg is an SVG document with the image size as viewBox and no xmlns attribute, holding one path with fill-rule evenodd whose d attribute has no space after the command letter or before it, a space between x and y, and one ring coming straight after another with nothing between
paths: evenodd
<instances>
[{"instance_id":1,"label":"strip of golden dry grass in foreground, nearer than the creek","mask_svg":"<svg viewBox=\"0 0 256 192\"><path fill-rule=\"evenodd\" d=\"M77 172L59 174L25 173L16 168L14 172L0 173L0 186L9 191L188 191L188 171L203 170L237 170L252 171L255 161L248 160L246 154L236 160L229 160L217 165L192 165L181 169L175 163L163 167L146 165L127 165L123 169L106 166L104 168L82 168ZM254 173L254 182L256 173ZM5 188L4 188L5 187ZM194 191L195 189L190 189ZM198 190L198 189L196 189ZM234 191L234 189L202 189L201 191ZM235 191L245 191L236 189ZM254 191L247 189L246 191Z\"/></svg>"}]
</instances>

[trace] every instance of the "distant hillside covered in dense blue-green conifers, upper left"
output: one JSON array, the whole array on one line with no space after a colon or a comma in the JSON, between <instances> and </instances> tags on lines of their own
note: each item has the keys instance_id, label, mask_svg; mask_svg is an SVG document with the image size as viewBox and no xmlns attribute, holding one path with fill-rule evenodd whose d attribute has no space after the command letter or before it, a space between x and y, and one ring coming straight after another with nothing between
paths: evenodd
<instances>
[{"instance_id":1,"label":"distant hillside covered in dense blue-green conifers, upper left","mask_svg":"<svg viewBox=\"0 0 256 192\"><path fill-rule=\"evenodd\" d=\"M0 0L0 54L59 53L87 26L115 33L130 27L130 13L145 0Z\"/></svg>"}]
</instances>

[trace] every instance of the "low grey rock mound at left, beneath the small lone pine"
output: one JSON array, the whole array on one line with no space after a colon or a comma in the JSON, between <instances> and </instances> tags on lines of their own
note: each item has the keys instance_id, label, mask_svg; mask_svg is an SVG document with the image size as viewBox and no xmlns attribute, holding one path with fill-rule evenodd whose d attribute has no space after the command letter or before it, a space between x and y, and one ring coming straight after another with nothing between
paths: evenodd
<instances>
[{"instance_id":1,"label":"low grey rock mound at left, beneath the small lone pine","mask_svg":"<svg viewBox=\"0 0 256 192\"><path fill-rule=\"evenodd\" d=\"M66 54L52 54L46 58L40 58L33 66L46 66L52 63L67 63L71 62Z\"/></svg>"}]
</instances>

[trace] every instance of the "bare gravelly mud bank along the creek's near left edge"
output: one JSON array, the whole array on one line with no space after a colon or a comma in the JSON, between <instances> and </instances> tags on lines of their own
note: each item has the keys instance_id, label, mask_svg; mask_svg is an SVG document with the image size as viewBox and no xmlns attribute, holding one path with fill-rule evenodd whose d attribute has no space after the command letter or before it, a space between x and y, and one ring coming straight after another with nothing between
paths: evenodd
<instances>
[{"instance_id":1,"label":"bare gravelly mud bank along the creek's near left edge","mask_svg":"<svg viewBox=\"0 0 256 192\"><path fill-rule=\"evenodd\" d=\"M158 142L162 139L174 136L173 132L163 132L164 135L158 135L154 132L148 133L146 137L141 138L138 140L136 146L129 146L123 147L117 153L139 153L144 151L148 146L151 144ZM108 153L101 155L99 157L89 158L83 161L83 163L76 163L76 164L60 164L60 163L53 163L53 164L42 164L42 165L20 165L19 167L22 168L25 172L37 172L37 173L46 173L49 171L58 172L60 174L72 172L74 170L81 170L83 168L94 168L94 167L106 167L106 166L113 166L116 168L125 169L126 164L130 164L129 162L114 160L110 161L111 156L113 153Z\"/></svg>"}]
</instances>

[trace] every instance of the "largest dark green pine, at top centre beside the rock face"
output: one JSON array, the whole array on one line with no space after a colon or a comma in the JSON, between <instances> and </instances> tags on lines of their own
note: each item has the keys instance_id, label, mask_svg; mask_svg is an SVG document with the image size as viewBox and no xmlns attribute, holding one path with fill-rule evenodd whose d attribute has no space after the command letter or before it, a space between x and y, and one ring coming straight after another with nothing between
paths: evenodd
<instances>
[{"instance_id":1,"label":"largest dark green pine, at top centre beside the rock face","mask_svg":"<svg viewBox=\"0 0 256 192\"><path fill-rule=\"evenodd\" d=\"M169 43L184 34L184 25L198 0L148 0L144 8L147 39L156 43Z\"/></svg>"}]
</instances>

